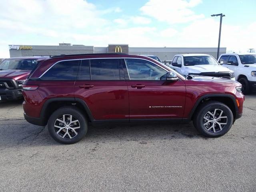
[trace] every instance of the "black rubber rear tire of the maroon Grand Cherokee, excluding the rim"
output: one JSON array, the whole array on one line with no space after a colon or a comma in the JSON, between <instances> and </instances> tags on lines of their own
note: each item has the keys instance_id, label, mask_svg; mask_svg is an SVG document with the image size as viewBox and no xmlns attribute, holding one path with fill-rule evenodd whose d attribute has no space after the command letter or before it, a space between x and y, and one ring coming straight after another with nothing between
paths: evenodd
<instances>
[{"instance_id":1,"label":"black rubber rear tire of the maroon Grand Cherokee, excluding the rim","mask_svg":"<svg viewBox=\"0 0 256 192\"><path fill-rule=\"evenodd\" d=\"M55 131L55 128L54 128L55 121L57 118L59 118L59 116L62 116L63 114L70 114L79 121L80 129L79 129L78 135L75 136L74 138L61 138L60 136L58 136L58 134ZM48 131L52 136L52 138L62 144L73 144L80 141L86 135L88 130L87 122L82 112L80 112L80 110L76 108L67 108L67 107L59 108L58 110L53 112L48 120L47 126L48 126Z\"/></svg>"}]
</instances>

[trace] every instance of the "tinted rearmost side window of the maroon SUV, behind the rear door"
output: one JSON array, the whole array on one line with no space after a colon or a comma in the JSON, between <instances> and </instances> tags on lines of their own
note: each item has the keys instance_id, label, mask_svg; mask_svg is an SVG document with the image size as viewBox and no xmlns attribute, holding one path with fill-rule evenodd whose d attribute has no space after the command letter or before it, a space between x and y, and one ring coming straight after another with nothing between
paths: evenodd
<instances>
[{"instance_id":1,"label":"tinted rearmost side window of the maroon SUV, behind the rear door","mask_svg":"<svg viewBox=\"0 0 256 192\"><path fill-rule=\"evenodd\" d=\"M78 60L61 61L50 68L42 77L42 80L76 80Z\"/></svg>"}]
</instances>

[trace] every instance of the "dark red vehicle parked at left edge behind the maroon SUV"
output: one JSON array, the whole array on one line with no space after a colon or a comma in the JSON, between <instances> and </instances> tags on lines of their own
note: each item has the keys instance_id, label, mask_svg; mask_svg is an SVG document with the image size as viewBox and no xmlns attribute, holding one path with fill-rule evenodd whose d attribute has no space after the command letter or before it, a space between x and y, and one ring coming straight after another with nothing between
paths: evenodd
<instances>
[{"instance_id":1,"label":"dark red vehicle parked at left edge behind the maroon SUV","mask_svg":"<svg viewBox=\"0 0 256 192\"><path fill-rule=\"evenodd\" d=\"M22 98L22 83L41 57L16 57L3 60L0 64L0 100Z\"/></svg>"}]
</instances>

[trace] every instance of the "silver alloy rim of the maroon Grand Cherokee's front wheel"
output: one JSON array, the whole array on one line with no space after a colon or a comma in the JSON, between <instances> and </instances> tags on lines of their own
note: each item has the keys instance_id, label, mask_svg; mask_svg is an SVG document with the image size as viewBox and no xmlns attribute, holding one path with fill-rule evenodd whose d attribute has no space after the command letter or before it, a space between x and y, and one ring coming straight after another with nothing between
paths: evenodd
<instances>
[{"instance_id":1,"label":"silver alloy rim of the maroon Grand Cherokee's front wheel","mask_svg":"<svg viewBox=\"0 0 256 192\"><path fill-rule=\"evenodd\" d=\"M208 111L203 118L203 126L208 132L222 131L228 123L228 117L220 109Z\"/></svg>"}]
</instances>

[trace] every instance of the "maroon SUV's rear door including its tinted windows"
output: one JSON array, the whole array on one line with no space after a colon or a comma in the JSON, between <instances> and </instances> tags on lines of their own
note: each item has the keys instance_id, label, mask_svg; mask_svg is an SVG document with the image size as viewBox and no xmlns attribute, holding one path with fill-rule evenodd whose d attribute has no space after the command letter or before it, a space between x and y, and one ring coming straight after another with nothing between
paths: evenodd
<instances>
[{"instance_id":1,"label":"maroon SUV's rear door including its tinted windows","mask_svg":"<svg viewBox=\"0 0 256 192\"><path fill-rule=\"evenodd\" d=\"M86 102L94 120L129 121L128 88L119 58L81 60L74 95Z\"/></svg>"}]
</instances>

